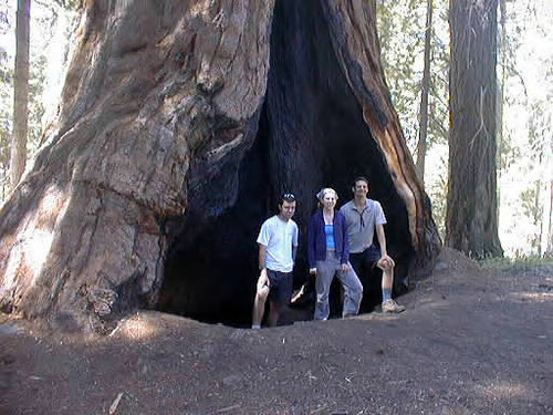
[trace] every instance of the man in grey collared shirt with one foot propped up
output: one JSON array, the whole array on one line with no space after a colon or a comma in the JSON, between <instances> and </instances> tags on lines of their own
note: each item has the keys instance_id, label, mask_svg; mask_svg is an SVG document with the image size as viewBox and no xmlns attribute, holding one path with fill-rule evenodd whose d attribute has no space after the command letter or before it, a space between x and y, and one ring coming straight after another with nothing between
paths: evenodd
<instances>
[{"instance_id":1,"label":"man in grey collared shirt with one foot propped up","mask_svg":"<svg viewBox=\"0 0 553 415\"><path fill-rule=\"evenodd\" d=\"M378 201L367 198L368 180L365 177L357 177L354 180L352 191L353 200L340 209L346 217L349 262L362 281L374 267L382 269L382 310L383 312L401 312L405 307L392 299L395 262L386 250L386 235L384 234L386 217L382 206ZM375 230L379 249L373 245Z\"/></svg>"}]
</instances>

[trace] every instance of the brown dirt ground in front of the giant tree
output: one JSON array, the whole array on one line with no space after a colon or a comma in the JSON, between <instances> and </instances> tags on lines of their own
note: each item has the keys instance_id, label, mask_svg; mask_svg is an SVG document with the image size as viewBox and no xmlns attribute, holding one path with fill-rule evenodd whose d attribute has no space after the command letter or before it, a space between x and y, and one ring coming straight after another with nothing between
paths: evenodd
<instances>
[{"instance_id":1,"label":"brown dirt ground in front of the giant tree","mask_svg":"<svg viewBox=\"0 0 553 415\"><path fill-rule=\"evenodd\" d=\"M0 414L553 414L553 264L445 250L397 315L208 325L140 312L108 336L0 324Z\"/></svg>"}]
</instances>

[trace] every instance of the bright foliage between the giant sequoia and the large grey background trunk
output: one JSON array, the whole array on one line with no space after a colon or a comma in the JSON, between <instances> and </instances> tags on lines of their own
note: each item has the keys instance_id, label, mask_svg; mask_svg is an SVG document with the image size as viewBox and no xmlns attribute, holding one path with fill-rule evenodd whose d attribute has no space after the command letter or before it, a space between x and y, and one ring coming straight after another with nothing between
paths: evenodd
<instances>
[{"instance_id":1,"label":"bright foliage between the giant sequoia and the large grey background trunk","mask_svg":"<svg viewBox=\"0 0 553 415\"><path fill-rule=\"evenodd\" d=\"M445 231L449 135L449 3L434 0L425 186L432 217ZM426 0L379 1L378 32L386 80L411 153L418 142Z\"/></svg>"}]
</instances>

